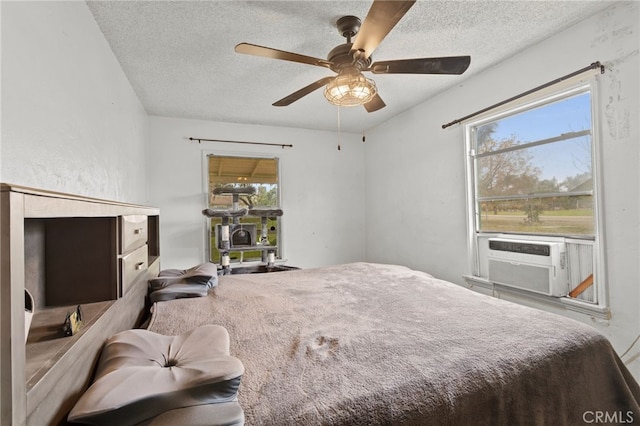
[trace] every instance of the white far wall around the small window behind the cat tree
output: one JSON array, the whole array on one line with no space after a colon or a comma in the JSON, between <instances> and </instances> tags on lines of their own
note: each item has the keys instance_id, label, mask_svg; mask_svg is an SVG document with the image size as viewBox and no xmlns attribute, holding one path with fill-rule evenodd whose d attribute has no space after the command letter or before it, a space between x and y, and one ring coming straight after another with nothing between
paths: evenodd
<instances>
[{"instance_id":1,"label":"white far wall around the small window behind the cat tree","mask_svg":"<svg viewBox=\"0 0 640 426\"><path fill-rule=\"evenodd\" d=\"M149 192L160 208L163 268L205 260L206 169L203 156L280 159L282 248L287 264L322 266L364 259L364 162L359 135L154 117ZM194 142L189 137L292 144L293 148Z\"/></svg>"}]
</instances>

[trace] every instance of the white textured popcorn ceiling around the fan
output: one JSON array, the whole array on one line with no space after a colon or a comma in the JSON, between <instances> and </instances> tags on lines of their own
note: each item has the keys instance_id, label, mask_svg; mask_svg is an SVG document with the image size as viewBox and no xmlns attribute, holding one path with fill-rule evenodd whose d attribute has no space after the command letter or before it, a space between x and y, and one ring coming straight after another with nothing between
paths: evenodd
<instances>
[{"instance_id":1,"label":"white textured popcorn ceiling around the fan","mask_svg":"<svg viewBox=\"0 0 640 426\"><path fill-rule=\"evenodd\" d=\"M470 55L461 76L373 75L387 106L338 108L319 89L271 104L333 72L241 55L248 42L317 58L345 42L335 21L370 1L88 1L151 115L362 132L606 8L609 1L418 1L373 60ZM541 58L541 62L544 58ZM339 111L339 114L338 114Z\"/></svg>"}]
</instances>

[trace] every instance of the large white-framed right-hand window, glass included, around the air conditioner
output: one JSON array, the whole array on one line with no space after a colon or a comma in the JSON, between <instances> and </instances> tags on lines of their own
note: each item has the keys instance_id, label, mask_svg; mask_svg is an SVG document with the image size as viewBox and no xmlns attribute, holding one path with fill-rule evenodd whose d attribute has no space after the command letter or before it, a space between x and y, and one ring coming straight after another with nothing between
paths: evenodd
<instances>
[{"instance_id":1,"label":"large white-framed right-hand window, glass included, around the air conditioner","mask_svg":"<svg viewBox=\"0 0 640 426\"><path fill-rule=\"evenodd\" d=\"M568 280L561 302L606 306L594 278L600 262L592 95L592 83L556 88L466 124L474 277L495 284L490 239L561 242Z\"/></svg>"}]
</instances>

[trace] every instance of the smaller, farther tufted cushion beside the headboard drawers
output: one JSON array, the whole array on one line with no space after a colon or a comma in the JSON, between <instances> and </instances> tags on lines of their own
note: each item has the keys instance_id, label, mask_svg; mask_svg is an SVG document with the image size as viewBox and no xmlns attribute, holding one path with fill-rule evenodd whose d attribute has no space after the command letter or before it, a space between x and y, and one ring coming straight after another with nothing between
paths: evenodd
<instances>
[{"instance_id":1,"label":"smaller, farther tufted cushion beside the headboard drawers","mask_svg":"<svg viewBox=\"0 0 640 426\"><path fill-rule=\"evenodd\" d=\"M218 285L218 267L205 262L189 269L165 269L157 278L149 280L151 303L206 296Z\"/></svg>"}]
</instances>

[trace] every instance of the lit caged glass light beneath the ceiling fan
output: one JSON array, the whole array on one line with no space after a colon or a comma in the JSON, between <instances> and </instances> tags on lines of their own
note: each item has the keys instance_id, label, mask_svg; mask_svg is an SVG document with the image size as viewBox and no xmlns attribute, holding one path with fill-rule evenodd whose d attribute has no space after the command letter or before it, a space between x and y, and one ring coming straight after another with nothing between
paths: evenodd
<instances>
[{"instance_id":1,"label":"lit caged glass light beneath the ceiling fan","mask_svg":"<svg viewBox=\"0 0 640 426\"><path fill-rule=\"evenodd\" d=\"M378 93L373 80L358 70L343 70L324 89L324 97L338 106L366 104Z\"/></svg>"}]
</instances>

